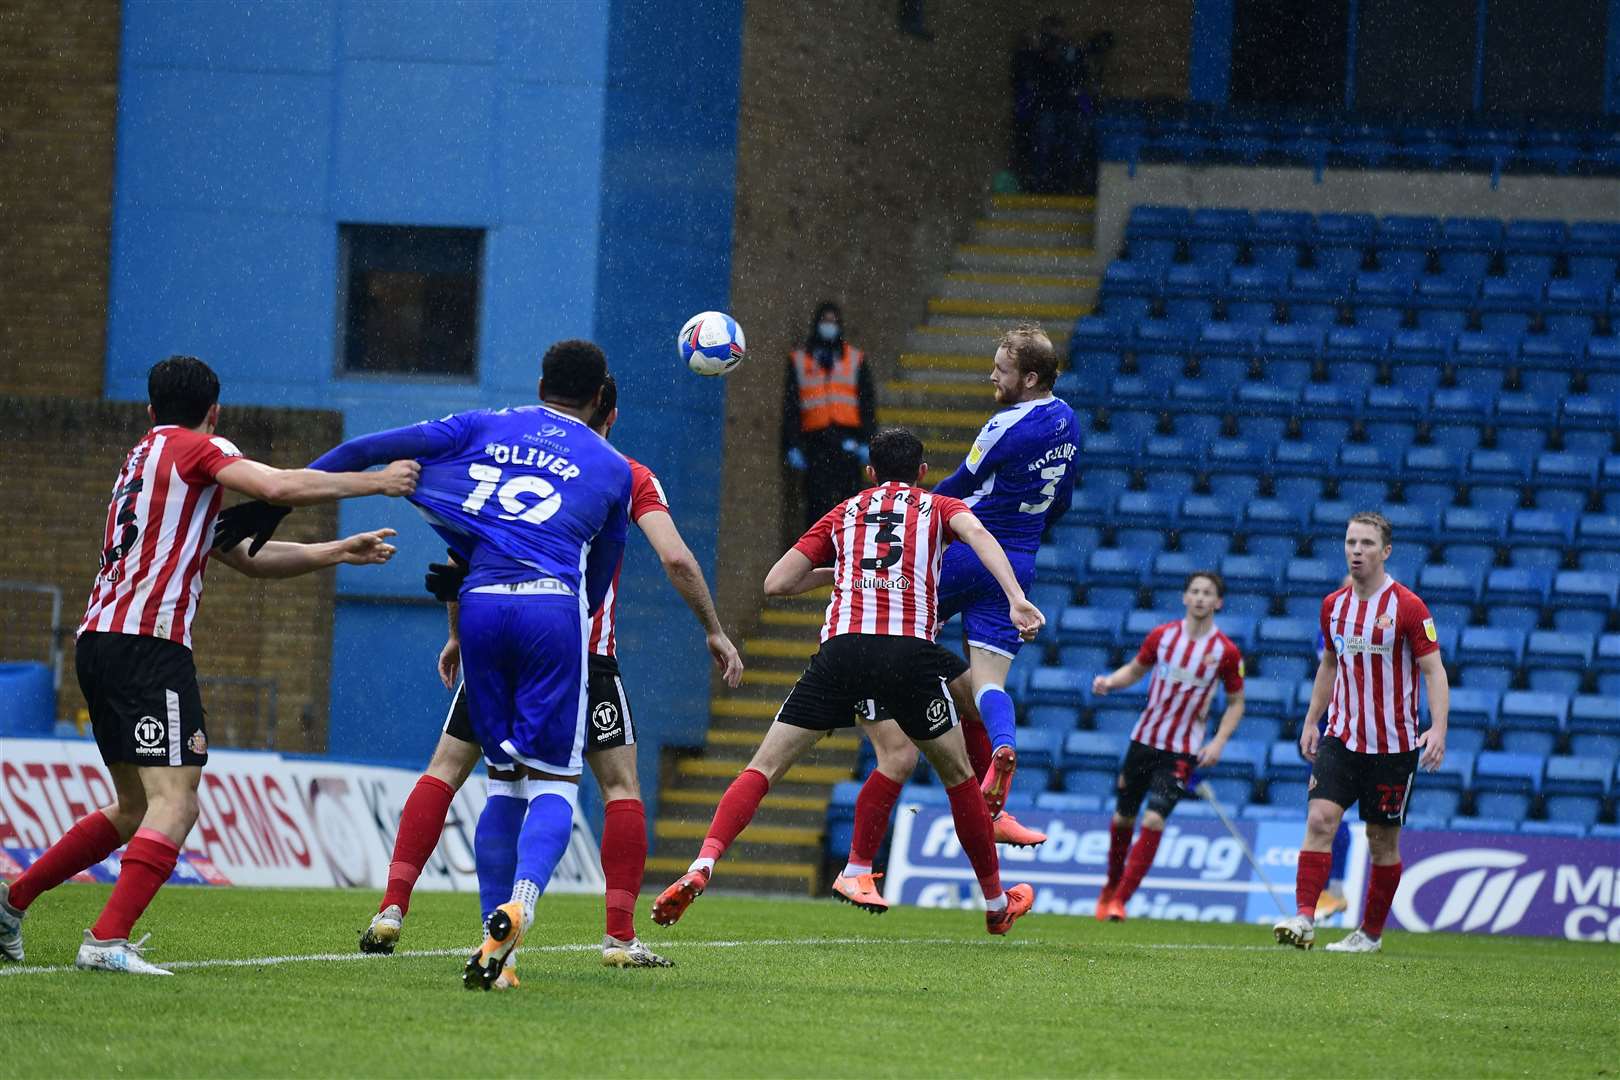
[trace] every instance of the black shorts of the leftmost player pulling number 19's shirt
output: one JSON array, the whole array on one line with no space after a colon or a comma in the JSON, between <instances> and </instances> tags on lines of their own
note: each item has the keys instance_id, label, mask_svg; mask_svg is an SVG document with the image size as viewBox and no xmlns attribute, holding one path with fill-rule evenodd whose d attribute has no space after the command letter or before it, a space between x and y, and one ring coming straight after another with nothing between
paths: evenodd
<instances>
[{"instance_id":1,"label":"black shorts of the leftmost player pulling number 19's shirt","mask_svg":"<svg viewBox=\"0 0 1620 1080\"><path fill-rule=\"evenodd\" d=\"M162 638L86 631L75 656L96 748L107 764L207 764L191 649Z\"/></svg>"}]
</instances>

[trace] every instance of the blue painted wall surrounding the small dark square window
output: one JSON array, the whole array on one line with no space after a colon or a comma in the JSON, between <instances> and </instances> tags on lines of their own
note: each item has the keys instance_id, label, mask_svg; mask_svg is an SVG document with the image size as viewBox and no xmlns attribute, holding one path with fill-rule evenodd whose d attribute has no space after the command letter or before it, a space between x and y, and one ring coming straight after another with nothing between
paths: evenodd
<instances>
[{"instance_id":1,"label":"blue painted wall surrounding the small dark square window","mask_svg":"<svg viewBox=\"0 0 1620 1080\"><path fill-rule=\"evenodd\" d=\"M727 303L740 39L740 0L126 0L109 397L196 353L227 410L335 408L353 436L530 402L544 347L595 337L616 442L664 478L713 578L724 390L674 334ZM488 230L476 379L339 376L340 222ZM416 601L439 549L403 504L342 523L403 542L339 573L330 750L420 763L447 696L442 612ZM701 638L645 544L624 593L646 750L701 738Z\"/></svg>"}]
</instances>

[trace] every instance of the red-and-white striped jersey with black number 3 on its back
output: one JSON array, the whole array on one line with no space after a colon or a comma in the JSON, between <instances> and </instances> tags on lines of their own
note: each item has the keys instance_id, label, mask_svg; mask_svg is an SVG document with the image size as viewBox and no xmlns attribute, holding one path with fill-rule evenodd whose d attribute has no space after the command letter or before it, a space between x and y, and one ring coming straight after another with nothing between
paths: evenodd
<instances>
[{"instance_id":1,"label":"red-and-white striped jersey with black number 3 on its back","mask_svg":"<svg viewBox=\"0 0 1620 1080\"><path fill-rule=\"evenodd\" d=\"M821 640L880 633L933 641L940 633L940 557L946 525L967 504L889 481L850 495L794 547L812 567L833 565Z\"/></svg>"}]
</instances>

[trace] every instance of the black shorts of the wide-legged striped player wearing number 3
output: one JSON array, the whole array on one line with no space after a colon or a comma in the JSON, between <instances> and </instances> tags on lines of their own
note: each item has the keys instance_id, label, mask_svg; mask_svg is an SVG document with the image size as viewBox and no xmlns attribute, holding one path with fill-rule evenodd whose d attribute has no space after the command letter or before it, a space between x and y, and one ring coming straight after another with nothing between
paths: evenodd
<instances>
[{"instance_id":1,"label":"black shorts of the wide-legged striped player wearing number 3","mask_svg":"<svg viewBox=\"0 0 1620 1080\"><path fill-rule=\"evenodd\" d=\"M810 657L776 719L829 732L881 709L912 738L938 738L956 727L948 683L966 670L967 661L933 641L841 633Z\"/></svg>"}]
</instances>

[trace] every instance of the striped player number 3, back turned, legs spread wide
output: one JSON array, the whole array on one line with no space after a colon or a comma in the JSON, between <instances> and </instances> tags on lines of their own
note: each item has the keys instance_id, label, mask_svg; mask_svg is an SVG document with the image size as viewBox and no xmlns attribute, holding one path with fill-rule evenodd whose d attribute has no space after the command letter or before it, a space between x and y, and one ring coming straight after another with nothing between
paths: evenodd
<instances>
[{"instance_id":1,"label":"striped player number 3, back turned, legs spread wide","mask_svg":"<svg viewBox=\"0 0 1620 1080\"><path fill-rule=\"evenodd\" d=\"M748 767L714 810L692 868L653 902L653 921L669 926L708 887L714 863L737 839L773 784L826 732L876 721L881 708L928 756L951 800L956 834L985 897L985 926L1004 934L1029 912L1034 891L1003 892L993 826L967 761L949 682L967 664L940 648L940 559L961 539L1001 586L1008 617L1027 641L1043 620L1019 588L1001 544L959 500L920 487L928 466L909 431L872 437L873 487L846 499L816 521L765 578L770 596L794 596L831 585L821 648L782 703ZM831 565L829 565L831 563ZM852 897L850 902L855 902ZM860 904L883 912L876 897Z\"/></svg>"}]
</instances>

